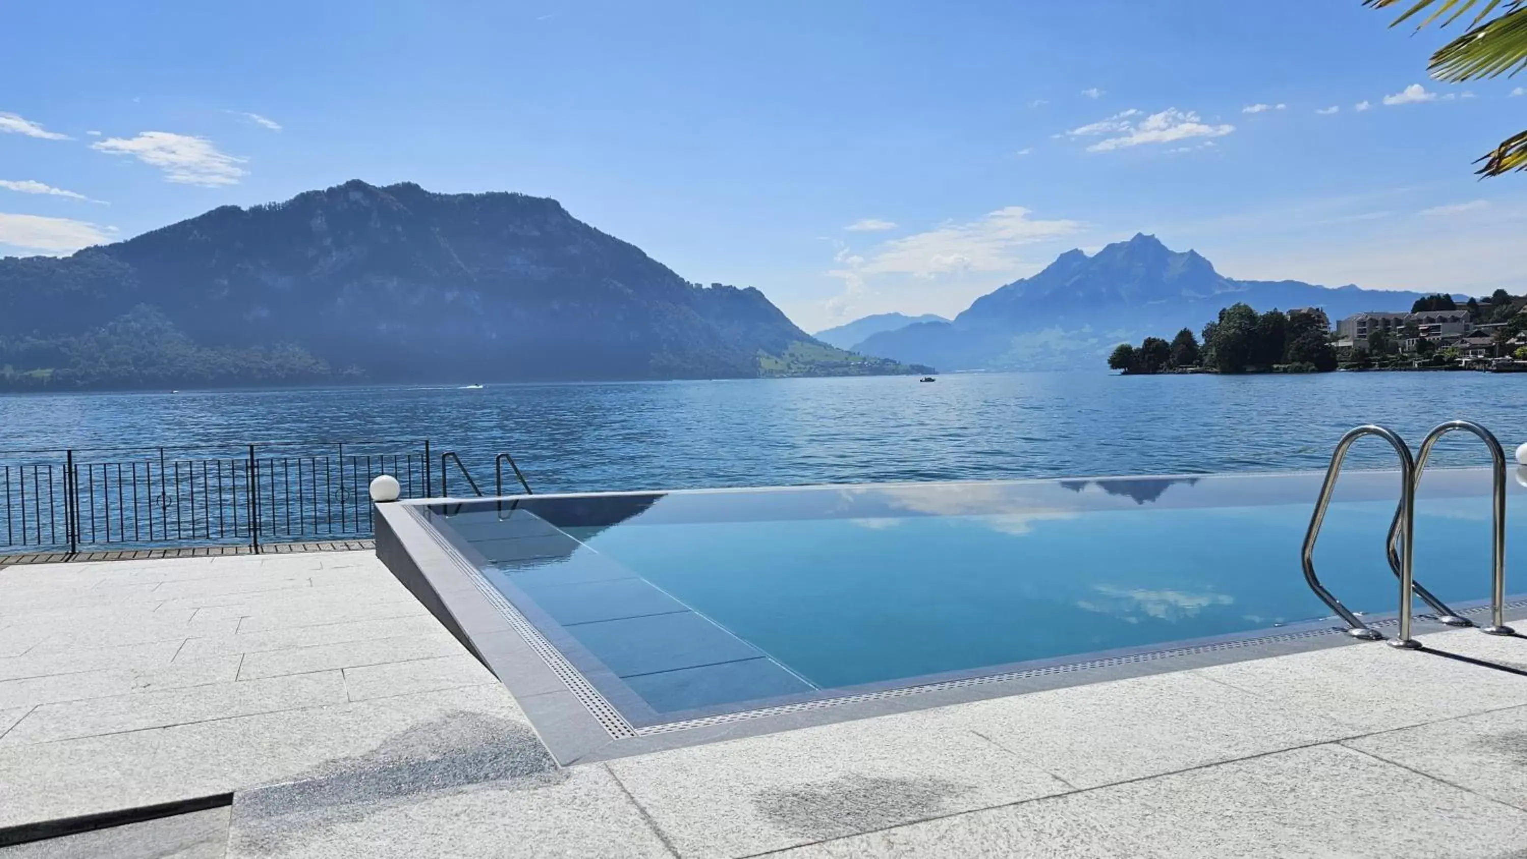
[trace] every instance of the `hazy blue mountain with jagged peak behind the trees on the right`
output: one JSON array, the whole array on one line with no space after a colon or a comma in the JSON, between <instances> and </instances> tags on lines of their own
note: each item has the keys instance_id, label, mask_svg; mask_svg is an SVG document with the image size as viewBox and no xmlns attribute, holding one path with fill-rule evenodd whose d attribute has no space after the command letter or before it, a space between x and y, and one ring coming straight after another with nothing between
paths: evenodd
<instances>
[{"instance_id":1,"label":"hazy blue mountain with jagged peak behind the trees on the right","mask_svg":"<svg viewBox=\"0 0 1527 859\"><path fill-rule=\"evenodd\" d=\"M867 337L855 351L954 369L1093 366L1122 342L1197 334L1220 308L1319 307L1335 322L1365 310L1409 310L1422 293L1327 288L1299 281L1235 281L1194 250L1136 235L1093 256L1067 250L1032 278L974 301L951 322L921 322Z\"/></svg>"}]
</instances>

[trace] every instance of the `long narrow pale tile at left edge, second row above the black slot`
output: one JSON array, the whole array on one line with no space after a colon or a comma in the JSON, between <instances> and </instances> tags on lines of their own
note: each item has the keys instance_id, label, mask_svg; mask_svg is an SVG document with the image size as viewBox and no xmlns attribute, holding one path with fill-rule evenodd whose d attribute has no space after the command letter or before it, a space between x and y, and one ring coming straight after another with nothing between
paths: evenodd
<instances>
[{"instance_id":1,"label":"long narrow pale tile at left edge, second row above the black slot","mask_svg":"<svg viewBox=\"0 0 1527 859\"><path fill-rule=\"evenodd\" d=\"M344 676L339 671L319 671L44 703L34 708L0 743L47 743L345 700Z\"/></svg>"}]
</instances>

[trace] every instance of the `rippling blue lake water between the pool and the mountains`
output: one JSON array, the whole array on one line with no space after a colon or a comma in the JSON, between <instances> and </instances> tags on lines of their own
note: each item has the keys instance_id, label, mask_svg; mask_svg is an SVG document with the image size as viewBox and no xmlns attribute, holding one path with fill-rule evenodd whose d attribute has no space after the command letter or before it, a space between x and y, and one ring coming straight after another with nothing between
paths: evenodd
<instances>
[{"instance_id":1,"label":"rippling blue lake water between the pool and the mountains","mask_svg":"<svg viewBox=\"0 0 1527 859\"><path fill-rule=\"evenodd\" d=\"M538 491L1322 468L1341 433L1527 441L1527 374L1075 374L0 397L0 450L431 438ZM1484 464L1451 436L1438 464ZM1393 453L1359 444L1353 465Z\"/></svg>"}]
</instances>

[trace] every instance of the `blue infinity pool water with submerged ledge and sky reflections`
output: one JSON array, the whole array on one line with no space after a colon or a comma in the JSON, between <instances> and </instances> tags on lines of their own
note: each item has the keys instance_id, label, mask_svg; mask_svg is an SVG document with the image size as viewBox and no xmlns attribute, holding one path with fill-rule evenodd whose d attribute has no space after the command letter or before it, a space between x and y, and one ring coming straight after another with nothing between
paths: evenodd
<instances>
[{"instance_id":1,"label":"blue infinity pool water with submerged ledge and sky reflections","mask_svg":"<svg viewBox=\"0 0 1527 859\"><path fill-rule=\"evenodd\" d=\"M1322 618L1299 569L1319 479L534 496L423 517L641 726ZM1397 607L1397 482L1345 475L1321 534L1321 578L1358 612ZM1489 595L1489 490L1486 470L1426 473L1416 575L1443 600Z\"/></svg>"}]
</instances>

